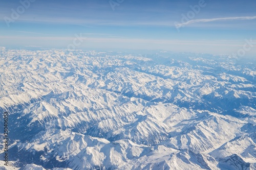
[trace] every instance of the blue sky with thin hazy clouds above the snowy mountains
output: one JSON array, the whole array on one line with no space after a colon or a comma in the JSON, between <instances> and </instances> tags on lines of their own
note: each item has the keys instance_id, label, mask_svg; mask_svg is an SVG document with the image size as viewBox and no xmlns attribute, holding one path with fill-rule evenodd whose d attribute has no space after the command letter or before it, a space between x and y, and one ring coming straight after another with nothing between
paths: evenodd
<instances>
[{"instance_id":1,"label":"blue sky with thin hazy clouds above the snowy mountains","mask_svg":"<svg viewBox=\"0 0 256 170\"><path fill-rule=\"evenodd\" d=\"M109 0L21 1L31 2L1 2L0 46L67 48L75 41L76 49L232 54L256 40L252 0L112 0L114 10ZM245 55L253 56L256 44L250 47Z\"/></svg>"}]
</instances>

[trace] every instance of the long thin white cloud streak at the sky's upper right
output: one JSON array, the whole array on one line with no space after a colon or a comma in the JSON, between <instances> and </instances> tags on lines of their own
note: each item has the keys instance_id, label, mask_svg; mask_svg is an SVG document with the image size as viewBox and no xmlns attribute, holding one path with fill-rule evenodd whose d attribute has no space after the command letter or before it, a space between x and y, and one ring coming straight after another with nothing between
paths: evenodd
<instances>
[{"instance_id":1,"label":"long thin white cloud streak at the sky's upper right","mask_svg":"<svg viewBox=\"0 0 256 170\"><path fill-rule=\"evenodd\" d=\"M198 23L198 22L212 22L212 21L221 21L221 20L251 20L251 19L256 19L256 16L224 17L224 18L211 18L211 19L191 19L184 23L178 23L176 25L176 27L180 28L185 25L189 25L192 23Z\"/></svg>"}]
</instances>

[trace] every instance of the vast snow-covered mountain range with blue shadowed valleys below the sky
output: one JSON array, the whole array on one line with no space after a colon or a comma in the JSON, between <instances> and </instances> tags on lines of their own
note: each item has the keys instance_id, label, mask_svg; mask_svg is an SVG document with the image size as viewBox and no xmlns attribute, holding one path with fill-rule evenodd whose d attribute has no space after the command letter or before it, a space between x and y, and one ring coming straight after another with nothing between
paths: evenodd
<instances>
[{"instance_id":1,"label":"vast snow-covered mountain range with blue shadowed valleys below the sky","mask_svg":"<svg viewBox=\"0 0 256 170\"><path fill-rule=\"evenodd\" d=\"M0 168L256 169L256 62L227 59L2 47Z\"/></svg>"}]
</instances>

